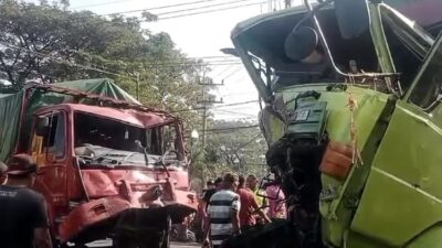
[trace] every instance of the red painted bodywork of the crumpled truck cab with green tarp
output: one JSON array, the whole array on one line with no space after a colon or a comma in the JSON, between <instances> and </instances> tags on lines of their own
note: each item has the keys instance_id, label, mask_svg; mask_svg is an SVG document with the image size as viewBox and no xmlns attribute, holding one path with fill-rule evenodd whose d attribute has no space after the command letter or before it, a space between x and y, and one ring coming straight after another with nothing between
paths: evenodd
<instances>
[{"instance_id":1,"label":"red painted bodywork of the crumpled truck cab with green tarp","mask_svg":"<svg viewBox=\"0 0 442 248\"><path fill-rule=\"evenodd\" d=\"M78 90L65 89L56 86L33 85L28 88L27 97L23 99L23 114L27 109L29 93L35 88L44 88L50 91L72 95L77 98L88 98L104 101L114 107L97 107L76 104L61 104L39 109L34 115L45 115L52 111L63 112L65 117L65 154L63 158L54 158L51 153L36 153L40 170L34 188L41 192L46 202L51 223L51 231L54 237L63 241L78 237L85 228L109 222L112 217L128 211L149 213L146 208L155 197L158 186L161 186L164 194L161 203L173 206L172 214L176 219L186 217L197 209L196 196L188 192L189 180L187 165L183 168L143 169L140 166L122 166L116 169L78 169L74 155L74 122L75 111L87 112L101 118L112 118L129 125L143 128L150 128L166 123L177 123L178 137L182 141L181 125L171 115L129 103L115 100L102 96L90 95ZM179 151L183 151L181 142ZM29 144L18 144L18 148ZM187 162L187 161L186 161ZM140 170L141 168L141 170ZM164 207L166 211L166 207ZM168 208L170 211L170 208ZM182 216L181 216L182 215ZM109 225L112 222L109 222ZM84 231L83 231L84 233ZM88 234L90 235L90 234ZM102 238L87 237L88 239ZM90 240L92 241L92 240Z\"/></svg>"}]
</instances>

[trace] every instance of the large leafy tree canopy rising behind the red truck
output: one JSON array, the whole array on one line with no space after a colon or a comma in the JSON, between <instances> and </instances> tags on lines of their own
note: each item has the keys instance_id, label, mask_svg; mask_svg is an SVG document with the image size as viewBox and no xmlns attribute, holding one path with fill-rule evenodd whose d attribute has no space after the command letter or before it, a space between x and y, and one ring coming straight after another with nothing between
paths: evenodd
<instances>
[{"instance_id":1,"label":"large leafy tree canopy rising behind the red truck","mask_svg":"<svg viewBox=\"0 0 442 248\"><path fill-rule=\"evenodd\" d=\"M148 106L173 111L196 104L203 64L177 50L167 33L151 34L137 18L72 12L67 4L0 0L0 79L20 88L25 79L110 77L133 95L138 80Z\"/></svg>"}]
</instances>

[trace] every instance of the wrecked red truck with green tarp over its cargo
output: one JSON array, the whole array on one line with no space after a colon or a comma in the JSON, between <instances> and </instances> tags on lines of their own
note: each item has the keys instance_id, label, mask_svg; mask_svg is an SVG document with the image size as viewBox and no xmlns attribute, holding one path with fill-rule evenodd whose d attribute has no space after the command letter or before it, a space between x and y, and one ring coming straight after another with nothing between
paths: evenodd
<instances>
[{"instance_id":1,"label":"wrecked red truck with green tarp over its cargo","mask_svg":"<svg viewBox=\"0 0 442 248\"><path fill-rule=\"evenodd\" d=\"M0 159L35 159L60 247L166 248L170 225L197 209L180 120L109 80L31 84L0 95Z\"/></svg>"}]
</instances>

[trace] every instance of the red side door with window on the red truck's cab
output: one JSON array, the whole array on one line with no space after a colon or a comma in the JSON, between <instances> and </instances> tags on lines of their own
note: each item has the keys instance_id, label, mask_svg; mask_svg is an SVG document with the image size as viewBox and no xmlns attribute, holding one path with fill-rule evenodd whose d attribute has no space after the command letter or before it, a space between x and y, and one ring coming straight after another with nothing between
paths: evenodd
<instances>
[{"instance_id":1,"label":"red side door with window on the red truck's cab","mask_svg":"<svg viewBox=\"0 0 442 248\"><path fill-rule=\"evenodd\" d=\"M56 213L66 204L66 114L55 111L39 118L48 118L49 127L45 134L34 131L32 136L32 157L42 172L35 180L35 190L45 196L50 211Z\"/></svg>"}]
</instances>

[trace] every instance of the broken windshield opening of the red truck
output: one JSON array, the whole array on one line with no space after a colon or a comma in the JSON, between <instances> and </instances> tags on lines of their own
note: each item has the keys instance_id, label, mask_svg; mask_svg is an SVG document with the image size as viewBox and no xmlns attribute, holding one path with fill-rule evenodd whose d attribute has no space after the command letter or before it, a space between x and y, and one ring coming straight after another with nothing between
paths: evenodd
<instances>
[{"instance_id":1,"label":"broken windshield opening of the red truck","mask_svg":"<svg viewBox=\"0 0 442 248\"><path fill-rule=\"evenodd\" d=\"M95 164L160 165L165 153L168 160L178 160L182 150L178 137L175 123L144 129L88 114L74 114L75 153L90 158Z\"/></svg>"}]
</instances>

